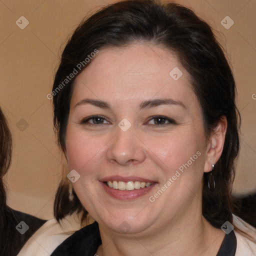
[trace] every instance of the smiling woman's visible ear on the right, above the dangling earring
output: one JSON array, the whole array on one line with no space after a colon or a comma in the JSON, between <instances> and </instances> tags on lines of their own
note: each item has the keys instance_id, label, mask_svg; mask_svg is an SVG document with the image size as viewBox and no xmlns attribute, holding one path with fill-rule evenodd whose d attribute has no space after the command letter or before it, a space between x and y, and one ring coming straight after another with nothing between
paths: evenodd
<instances>
[{"instance_id":1,"label":"smiling woman's visible ear on the right, above the dangling earring","mask_svg":"<svg viewBox=\"0 0 256 256\"><path fill-rule=\"evenodd\" d=\"M206 159L204 163L204 172L209 172L212 169L212 164L215 164L223 150L225 134L226 134L227 120L222 116L214 131L211 133L207 149Z\"/></svg>"}]
</instances>

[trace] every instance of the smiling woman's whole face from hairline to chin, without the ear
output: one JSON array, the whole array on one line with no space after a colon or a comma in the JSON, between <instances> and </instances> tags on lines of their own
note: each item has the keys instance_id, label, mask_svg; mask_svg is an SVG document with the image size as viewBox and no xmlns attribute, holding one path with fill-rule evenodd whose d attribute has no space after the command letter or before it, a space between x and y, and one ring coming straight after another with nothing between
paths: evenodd
<instances>
[{"instance_id":1,"label":"smiling woman's whole face from hairline to chin, without the ear","mask_svg":"<svg viewBox=\"0 0 256 256\"><path fill-rule=\"evenodd\" d=\"M75 80L66 156L80 175L75 192L101 226L153 233L201 216L207 141L177 58L143 43L99 50Z\"/></svg>"}]
</instances>

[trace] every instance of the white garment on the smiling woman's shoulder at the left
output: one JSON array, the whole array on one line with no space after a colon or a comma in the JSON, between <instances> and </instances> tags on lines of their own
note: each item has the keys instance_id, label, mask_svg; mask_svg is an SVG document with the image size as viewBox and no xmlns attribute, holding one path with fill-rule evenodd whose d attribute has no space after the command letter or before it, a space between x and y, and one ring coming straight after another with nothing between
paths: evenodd
<instances>
[{"instance_id":1,"label":"white garment on the smiling woman's shoulder at the left","mask_svg":"<svg viewBox=\"0 0 256 256\"><path fill-rule=\"evenodd\" d=\"M80 216L76 214L66 216L59 223L50 219L29 238L17 256L48 256L80 225Z\"/></svg>"}]
</instances>

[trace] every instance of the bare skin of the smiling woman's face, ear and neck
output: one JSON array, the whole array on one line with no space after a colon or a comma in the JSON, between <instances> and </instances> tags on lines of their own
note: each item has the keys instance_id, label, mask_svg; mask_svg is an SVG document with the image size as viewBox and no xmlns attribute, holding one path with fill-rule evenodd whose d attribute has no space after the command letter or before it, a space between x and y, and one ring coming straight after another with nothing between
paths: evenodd
<instances>
[{"instance_id":1,"label":"bare skin of the smiling woman's face, ear and neck","mask_svg":"<svg viewBox=\"0 0 256 256\"><path fill-rule=\"evenodd\" d=\"M169 75L174 67L183 73L176 81ZM111 108L82 104L84 98L106 101ZM139 109L142 101L156 98L181 103ZM82 122L92 115L103 116L103 123ZM153 115L174 123L157 122ZM131 124L127 131L118 126L123 118ZM146 43L100 49L75 80L65 143L68 168L80 174L75 192L99 224L102 245L97 254L216 255L224 232L201 214L202 176L220 157L225 131L222 118L206 139L189 74L169 50ZM149 196L198 151L200 156L150 202ZM156 183L143 196L121 200L100 184L111 175ZM129 226L126 232L120 229L123 221Z\"/></svg>"}]
</instances>

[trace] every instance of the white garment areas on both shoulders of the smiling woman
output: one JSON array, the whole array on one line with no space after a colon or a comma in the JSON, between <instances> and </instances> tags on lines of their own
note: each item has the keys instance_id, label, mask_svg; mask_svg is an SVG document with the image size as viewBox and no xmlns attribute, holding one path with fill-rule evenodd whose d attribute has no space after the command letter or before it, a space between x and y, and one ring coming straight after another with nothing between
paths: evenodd
<instances>
[{"instance_id":1,"label":"white garment areas on both shoulders of the smiling woman","mask_svg":"<svg viewBox=\"0 0 256 256\"><path fill-rule=\"evenodd\" d=\"M82 227L80 225L80 216L77 215L66 216L60 221L60 224L55 219L46 221L28 239L17 256L49 256L62 241ZM255 256L256 228L235 215L233 215L233 225L254 239L254 241L251 241L234 230L237 241L235 256Z\"/></svg>"}]
</instances>

